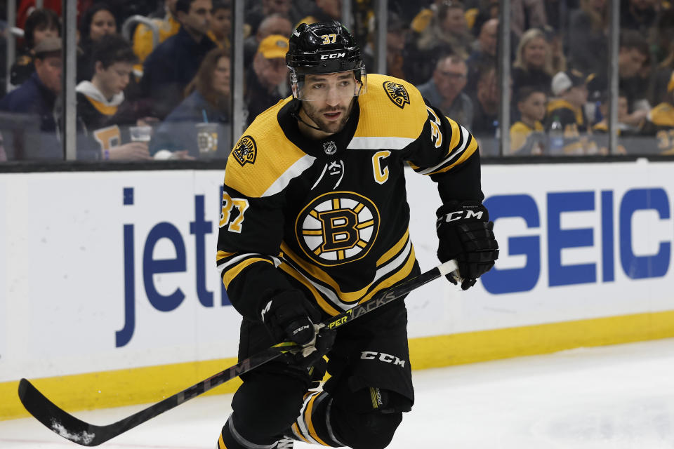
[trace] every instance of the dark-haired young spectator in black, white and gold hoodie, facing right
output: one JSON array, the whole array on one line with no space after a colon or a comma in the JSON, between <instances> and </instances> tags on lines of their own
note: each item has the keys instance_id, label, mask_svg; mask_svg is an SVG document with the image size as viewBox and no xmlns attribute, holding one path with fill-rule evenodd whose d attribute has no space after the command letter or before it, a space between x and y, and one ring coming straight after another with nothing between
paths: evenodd
<instances>
[{"instance_id":1,"label":"dark-haired young spectator in black, white and gold hoodie, facing right","mask_svg":"<svg viewBox=\"0 0 674 449\"><path fill-rule=\"evenodd\" d=\"M136 124L133 109L124 101L124 89L136 62L131 44L119 34L108 34L98 39L92 50L91 81L81 81L75 89L78 159L152 159L146 142L122 144L129 140L128 126Z\"/></svg>"}]
</instances>

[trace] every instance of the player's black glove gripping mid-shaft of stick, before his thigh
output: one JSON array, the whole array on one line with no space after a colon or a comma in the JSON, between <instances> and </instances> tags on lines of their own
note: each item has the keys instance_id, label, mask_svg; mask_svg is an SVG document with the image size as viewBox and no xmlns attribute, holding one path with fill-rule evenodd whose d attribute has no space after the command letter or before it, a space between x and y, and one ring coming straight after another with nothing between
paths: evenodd
<instances>
[{"instance_id":1,"label":"player's black glove gripping mid-shaft of stick, before his thigh","mask_svg":"<svg viewBox=\"0 0 674 449\"><path fill-rule=\"evenodd\" d=\"M318 326L320 312L298 291L286 291L272 297L261 315L277 342L294 342L301 347L292 357L300 366L312 366L327 354L335 340L333 330Z\"/></svg>"}]
</instances>

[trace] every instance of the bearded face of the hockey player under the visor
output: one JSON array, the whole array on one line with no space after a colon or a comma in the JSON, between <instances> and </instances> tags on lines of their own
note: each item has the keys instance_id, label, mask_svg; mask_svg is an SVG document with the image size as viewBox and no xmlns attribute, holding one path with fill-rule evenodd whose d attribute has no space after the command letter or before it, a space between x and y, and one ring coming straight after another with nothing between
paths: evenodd
<instances>
[{"instance_id":1,"label":"bearded face of the hockey player under the visor","mask_svg":"<svg viewBox=\"0 0 674 449\"><path fill-rule=\"evenodd\" d=\"M324 133L338 133L349 119L356 88L353 72L307 75L302 108Z\"/></svg>"}]
</instances>

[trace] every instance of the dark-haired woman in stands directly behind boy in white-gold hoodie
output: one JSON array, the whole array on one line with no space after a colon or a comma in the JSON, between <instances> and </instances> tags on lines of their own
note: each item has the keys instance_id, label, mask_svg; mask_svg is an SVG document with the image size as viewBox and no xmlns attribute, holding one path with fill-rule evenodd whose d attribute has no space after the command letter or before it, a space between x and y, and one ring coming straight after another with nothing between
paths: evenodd
<instances>
[{"instance_id":1,"label":"dark-haired woman in stands directly behind boy in white-gold hoodie","mask_svg":"<svg viewBox=\"0 0 674 449\"><path fill-rule=\"evenodd\" d=\"M110 6L97 3L86 10L80 22L77 82L91 79L93 76L93 60L91 60L93 46L101 37L114 33L117 33L117 19Z\"/></svg>"}]
</instances>

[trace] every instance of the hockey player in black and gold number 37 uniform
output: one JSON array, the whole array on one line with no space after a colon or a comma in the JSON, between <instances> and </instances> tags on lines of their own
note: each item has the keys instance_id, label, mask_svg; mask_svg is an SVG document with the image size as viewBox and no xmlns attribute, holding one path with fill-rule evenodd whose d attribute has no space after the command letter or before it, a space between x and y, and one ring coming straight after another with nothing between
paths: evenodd
<instances>
[{"instance_id":1,"label":"hockey player in black and gold number 37 uniform","mask_svg":"<svg viewBox=\"0 0 674 449\"><path fill-rule=\"evenodd\" d=\"M283 340L304 351L242 375L218 448L385 448L414 403L404 302L336 331L316 325L419 274L406 163L437 182L438 256L458 259L462 288L491 269L477 142L410 83L367 75L339 22L300 24L286 64L293 96L227 160L217 263L244 317L239 358ZM331 377L310 391L324 355Z\"/></svg>"}]
</instances>

